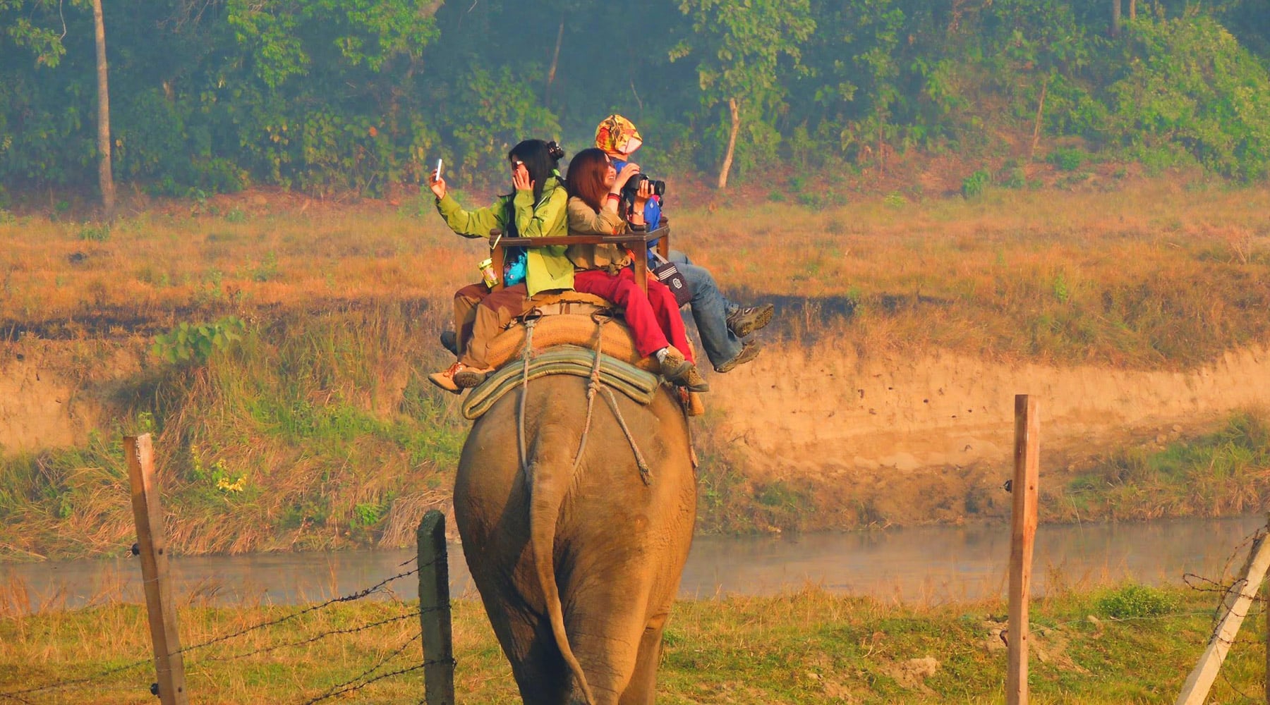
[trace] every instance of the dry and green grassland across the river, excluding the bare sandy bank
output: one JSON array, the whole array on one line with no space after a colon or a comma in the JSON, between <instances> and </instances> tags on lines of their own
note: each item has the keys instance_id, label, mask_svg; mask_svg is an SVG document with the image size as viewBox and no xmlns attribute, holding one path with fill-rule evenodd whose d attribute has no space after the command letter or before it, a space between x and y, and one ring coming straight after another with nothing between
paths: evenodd
<instances>
[{"instance_id":1,"label":"dry and green grassland across the river, excluding the bare sandy bank","mask_svg":"<svg viewBox=\"0 0 1270 705\"><path fill-rule=\"evenodd\" d=\"M1105 183L972 200L859 195L822 210L732 198L677 213L676 243L738 298L777 304L761 360L795 370L826 341L860 360L937 350L1120 372L1182 370L1270 337L1264 189ZM217 197L110 228L0 222L0 398L27 404L0 406L0 558L131 543L118 439L136 431L156 434L177 550L409 543L422 512L447 503L467 427L423 375L446 363L436 335L479 251L427 199ZM156 353L182 323L211 327ZM1062 489L1046 487L1044 519L1264 506L1267 416L1223 413L1086 459ZM752 477L725 421L695 422L702 529L906 521L833 477L837 489L818 484L823 473ZM932 520L1005 510L983 488L955 492Z\"/></svg>"}]
</instances>

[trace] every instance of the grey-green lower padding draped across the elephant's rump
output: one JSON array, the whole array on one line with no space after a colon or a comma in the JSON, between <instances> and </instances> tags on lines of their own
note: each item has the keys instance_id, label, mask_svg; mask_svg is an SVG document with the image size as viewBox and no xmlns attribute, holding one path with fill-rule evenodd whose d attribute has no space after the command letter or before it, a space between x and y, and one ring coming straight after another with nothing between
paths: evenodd
<instances>
[{"instance_id":1,"label":"grey-green lower padding draped across the elephant's rump","mask_svg":"<svg viewBox=\"0 0 1270 705\"><path fill-rule=\"evenodd\" d=\"M537 342L537 330L533 332ZM549 374L572 374L577 377L591 377L591 369L596 363L594 350L579 347L577 345L559 345L536 354L530 359L530 382ZM475 421L481 417L504 394L525 384L525 364L516 361L494 370L485 382L474 388L464 399L464 418ZM653 373L641 370L634 365L610 358L599 356L599 380L626 394L640 404L653 402L657 387L660 383Z\"/></svg>"}]
</instances>

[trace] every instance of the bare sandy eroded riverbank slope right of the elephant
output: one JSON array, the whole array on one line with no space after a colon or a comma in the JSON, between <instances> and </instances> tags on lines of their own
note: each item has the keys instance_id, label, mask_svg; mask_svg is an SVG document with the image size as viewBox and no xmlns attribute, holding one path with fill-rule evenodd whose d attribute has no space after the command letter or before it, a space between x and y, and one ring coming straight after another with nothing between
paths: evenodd
<instances>
[{"instance_id":1,"label":"bare sandy eroded riverbank slope right of the elephant","mask_svg":"<svg viewBox=\"0 0 1270 705\"><path fill-rule=\"evenodd\" d=\"M1165 443L1270 406L1270 347L1175 373L939 351L861 360L824 341L771 346L710 383L714 440L753 482L837 495L828 505L855 512L846 525L959 521L1008 511L999 487L1012 473L1015 394L1039 401L1041 477L1064 475L1125 443Z\"/></svg>"}]
</instances>

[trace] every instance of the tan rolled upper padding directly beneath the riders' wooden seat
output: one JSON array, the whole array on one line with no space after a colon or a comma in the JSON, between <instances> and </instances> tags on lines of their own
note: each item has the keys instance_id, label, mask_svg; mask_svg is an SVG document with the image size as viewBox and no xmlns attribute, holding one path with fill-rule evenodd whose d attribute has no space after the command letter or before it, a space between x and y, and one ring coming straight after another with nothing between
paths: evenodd
<instances>
[{"instance_id":1,"label":"tan rolled upper padding directly beneath the riders' wooden seat","mask_svg":"<svg viewBox=\"0 0 1270 705\"><path fill-rule=\"evenodd\" d=\"M579 313L558 313L542 316L533 323L533 349L545 350L556 345L578 345L596 347L596 330L601 332L601 353L624 363L649 372L658 372L657 360L644 358L635 350L635 339L630 328L620 320L602 318L603 325L591 316ZM491 368L502 368L508 361L517 360L525 349L525 323L513 323L490 341L485 360Z\"/></svg>"}]
</instances>

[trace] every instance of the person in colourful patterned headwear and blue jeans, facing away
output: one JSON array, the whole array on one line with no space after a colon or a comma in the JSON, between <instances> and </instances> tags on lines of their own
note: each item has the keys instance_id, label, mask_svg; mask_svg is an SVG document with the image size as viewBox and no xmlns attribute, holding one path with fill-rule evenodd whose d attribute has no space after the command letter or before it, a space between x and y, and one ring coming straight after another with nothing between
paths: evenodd
<instances>
[{"instance_id":1,"label":"person in colourful patterned headwear and blue jeans, facing away","mask_svg":"<svg viewBox=\"0 0 1270 705\"><path fill-rule=\"evenodd\" d=\"M635 150L644 145L635 124L618 114L612 114L596 127L596 147L612 160L613 167L622 170ZM662 221L662 194L664 181L653 181L654 197L643 207L643 217L649 228L655 230ZM660 188L658 188L660 186ZM629 191L630 189L627 189ZM743 340L772 320L775 308L770 303L757 307L740 306L724 297L710 270L692 264L686 254L671 250L669 260L683 275L692 293L692 318L701 335L701 346L715 372L726 373L758 356L759 346Z\"/></svg>"}]
</instances>

